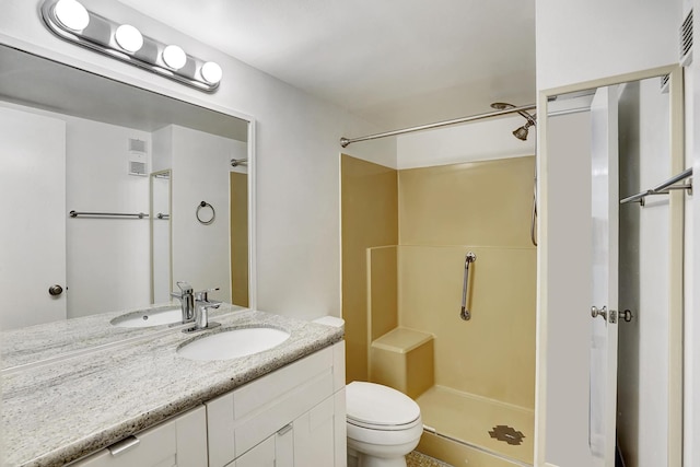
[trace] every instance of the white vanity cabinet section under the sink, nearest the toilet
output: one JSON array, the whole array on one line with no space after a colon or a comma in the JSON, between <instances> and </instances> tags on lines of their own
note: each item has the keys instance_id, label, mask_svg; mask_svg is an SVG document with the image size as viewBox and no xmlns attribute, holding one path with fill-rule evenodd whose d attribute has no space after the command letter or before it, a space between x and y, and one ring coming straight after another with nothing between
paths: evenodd
<instances>
[{"instance_id":1,"label":"white vanity cabinet section under the sink, nearest the toilet","mask_svg":"<svg viewBox=\"0 0 700 467\"><path fill-rule=\"evenodd\" d=\"M345 343L206 404L209 467L342 467Z\"/></svg>"}]
</instances>

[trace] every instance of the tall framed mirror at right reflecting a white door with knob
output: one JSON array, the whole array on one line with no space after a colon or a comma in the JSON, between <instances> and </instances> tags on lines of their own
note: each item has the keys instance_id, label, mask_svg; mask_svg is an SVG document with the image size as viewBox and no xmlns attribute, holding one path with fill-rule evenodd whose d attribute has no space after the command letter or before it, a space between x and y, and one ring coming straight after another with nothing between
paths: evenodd
<instances>
[{"instance_id":1,"label":"tall framed mirror at right reflecting a white door with knob","mask_svg":"<svg viewBox=\"0 0 700 467\"><path fill-rule=\"evenodd\" d=\"M547 371L576 386L550 386L546 460L555 465L680 465L682 77L676 67L635 74L539 103ZM557 407L558 392L567 407L581 400L579 419ZM564 425L586 427L587 446L572 448Z\"/></svg>"}]
</instances>

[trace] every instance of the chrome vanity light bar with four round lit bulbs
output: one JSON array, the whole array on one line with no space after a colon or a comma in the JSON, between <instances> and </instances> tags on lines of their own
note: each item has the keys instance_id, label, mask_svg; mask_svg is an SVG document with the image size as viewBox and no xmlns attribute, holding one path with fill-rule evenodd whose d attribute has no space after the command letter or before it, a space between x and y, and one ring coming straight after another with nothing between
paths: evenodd
<instances>
[{"instance_id":1,"label":"chrome vanity light bar with four round lit bulbs","mask_svg":"<svg viewBox=\"0 0 700 467\"><path fill-rule=\"evenodd\" d=\"M131 24L101 16L78 0L44 0L42 17L49 31L65 40L200 91L214 92L221 82L223 71L218 63L145 36Z\"/></svg>"}]
</instances>

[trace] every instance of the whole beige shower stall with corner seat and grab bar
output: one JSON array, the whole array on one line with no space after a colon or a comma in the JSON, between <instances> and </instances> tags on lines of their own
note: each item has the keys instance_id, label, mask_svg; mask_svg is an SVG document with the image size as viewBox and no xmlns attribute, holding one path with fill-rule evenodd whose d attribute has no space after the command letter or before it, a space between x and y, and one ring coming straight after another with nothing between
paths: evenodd
<instances>
[{"instance_id":1,"label":"whole beige shower stall with corner seat and grab bar","mask_svg":"<svg viewBox=\"0 0 700 467\"><path fill-rule=\"evenodd\" d=\"M530 107L493 106L487 115L525 114L513 135L527 137ZM521 149L402 170L341 157L348 381L417 400L418 451L454 466L533 464L537 249L528 148L529 155Z\"/></svg>"}]
</instances>

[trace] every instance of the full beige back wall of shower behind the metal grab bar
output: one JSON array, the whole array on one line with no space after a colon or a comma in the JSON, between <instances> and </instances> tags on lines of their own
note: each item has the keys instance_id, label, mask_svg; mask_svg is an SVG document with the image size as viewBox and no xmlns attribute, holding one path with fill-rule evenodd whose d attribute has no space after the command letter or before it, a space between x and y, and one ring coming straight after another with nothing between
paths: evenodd
<instances>
[{"instance_id":1,"label":"full beige back wall of shower behind the metal grab bar","mask_svg":"<svg viewBox=\"0 0 700 467\"><path fill-rule=\"evenodd\" d=\"M534 408L535 159L399 171L399 326L435 336L435 384ZM464 257L470 320L459 318Z\"/></svg>"}]
</instances>

